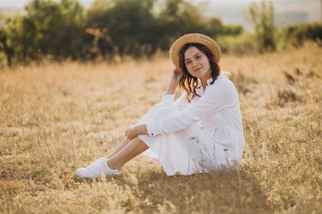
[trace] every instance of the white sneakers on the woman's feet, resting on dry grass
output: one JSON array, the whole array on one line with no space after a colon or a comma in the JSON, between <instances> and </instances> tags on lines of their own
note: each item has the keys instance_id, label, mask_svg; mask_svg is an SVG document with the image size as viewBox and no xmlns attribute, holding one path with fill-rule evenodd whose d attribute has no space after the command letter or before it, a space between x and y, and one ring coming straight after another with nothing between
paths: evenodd
<instances>
[{"instance_id":1,"label":"white sneakers on the woman's feet, resting on dry grass","mask_svg":"<svg viewBox=\"0 0 322 214\"><path fill-rule=\"evenodd\" d=\"M108 159L106 158L99 158L91 165L88 165L86 168L78 168L76 169L76 175L81 178L87 179L95 179L101 177L102 172L106 176L111 176L112 174L119 175L121 170L118 169L111 169L108 166Z\"/></svg>"}]
</instances>

